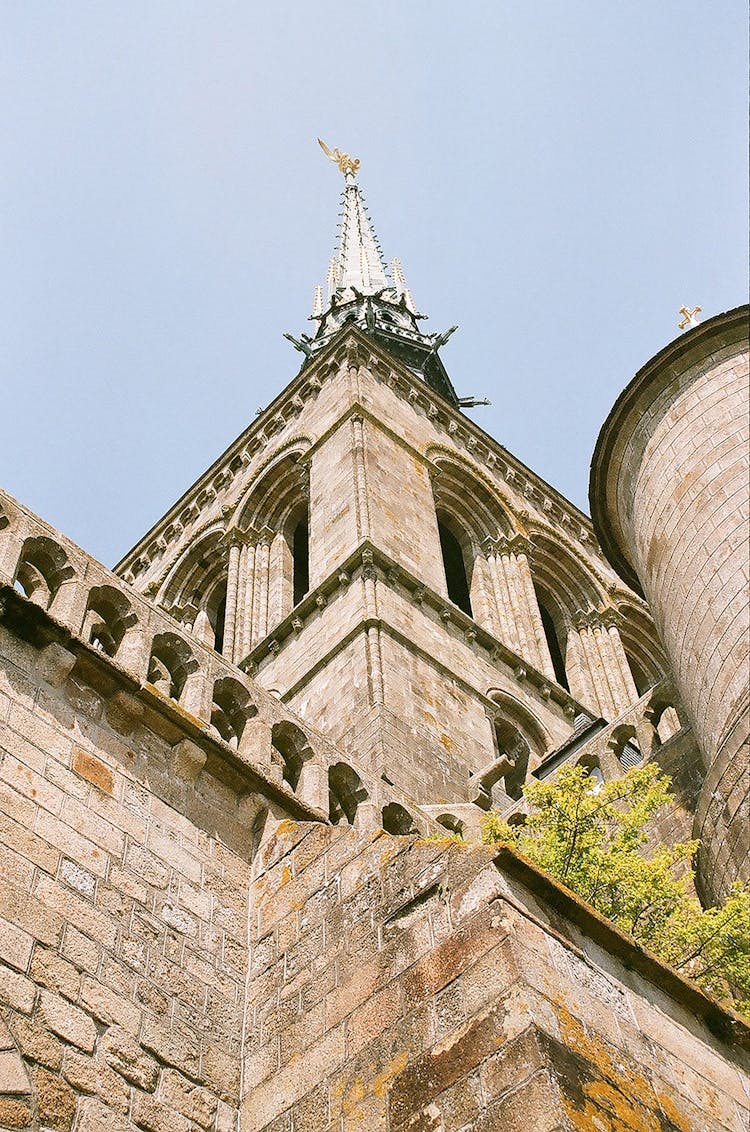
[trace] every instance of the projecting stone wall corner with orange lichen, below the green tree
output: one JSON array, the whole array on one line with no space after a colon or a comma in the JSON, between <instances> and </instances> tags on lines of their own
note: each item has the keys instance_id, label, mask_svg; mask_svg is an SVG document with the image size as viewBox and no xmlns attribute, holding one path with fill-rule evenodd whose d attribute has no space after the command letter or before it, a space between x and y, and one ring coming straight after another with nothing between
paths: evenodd
<instances>
[{"instance_id":1,"label":"projecting stone wall corner with orange lichen, below the green tree","mask_svg":"<svg viewBox=\"0 0 750 1132\"><path fill-rule=\"evenodd\" d=\"M747 1028L510 850L286 822L258 864L243 1132L747 1127Z\"/></svg>"}]
</instances>

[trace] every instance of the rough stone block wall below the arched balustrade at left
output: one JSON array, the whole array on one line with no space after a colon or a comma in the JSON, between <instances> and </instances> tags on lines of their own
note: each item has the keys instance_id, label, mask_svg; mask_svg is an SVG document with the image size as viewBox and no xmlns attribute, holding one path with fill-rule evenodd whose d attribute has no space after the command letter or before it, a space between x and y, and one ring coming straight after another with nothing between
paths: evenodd
<instances>
[{"instance_id":1,"label":"rough stone block wall below the arched balustrade at left","mask_svg":"<svg viewBox=\"0 0 750 1132\"><path fill-rule=\"evenodd\" d=\"M249 830L2 634L0 1126L235 1126ZM52 683L45 679L52 678Z\"/></svg>"}]
</instances>

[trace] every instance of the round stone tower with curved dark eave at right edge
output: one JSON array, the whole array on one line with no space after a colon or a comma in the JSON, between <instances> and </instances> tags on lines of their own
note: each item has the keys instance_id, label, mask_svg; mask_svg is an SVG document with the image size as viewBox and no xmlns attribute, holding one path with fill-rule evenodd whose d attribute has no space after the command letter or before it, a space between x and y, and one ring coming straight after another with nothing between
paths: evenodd
<instances>
[{"instance_id":1,"label":"round stone tower with curved dark eave at right edge","mask_svg":"<svg viewBox=\"0 0 750 1132\"><path fill-rule=\"evenodd\" d=\"M696 813L709 901L750 875L748 307L688 331L600 432L597 537L649 602L705 762Z\"/></svg>"}]
</instances>

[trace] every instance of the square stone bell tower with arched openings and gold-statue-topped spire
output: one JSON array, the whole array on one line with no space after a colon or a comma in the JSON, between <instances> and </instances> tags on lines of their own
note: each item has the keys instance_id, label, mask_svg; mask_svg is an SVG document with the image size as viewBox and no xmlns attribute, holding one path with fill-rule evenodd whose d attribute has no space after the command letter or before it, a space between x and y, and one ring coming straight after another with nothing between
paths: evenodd
<instances>
[{"instance_id":1,"label":"square stone bell tower with arched openings and gold-statue-topped spire","mask_svg":"<svg viewBox=\"0 0 750 1132\"><path fill-rule=\"evenodd\" d=\"M376 780L509 807L663 655L589 520L464 414L454 328L423 328L327 152L340 232L298 376L117 571Z\"/></svg>"}]
</instances>

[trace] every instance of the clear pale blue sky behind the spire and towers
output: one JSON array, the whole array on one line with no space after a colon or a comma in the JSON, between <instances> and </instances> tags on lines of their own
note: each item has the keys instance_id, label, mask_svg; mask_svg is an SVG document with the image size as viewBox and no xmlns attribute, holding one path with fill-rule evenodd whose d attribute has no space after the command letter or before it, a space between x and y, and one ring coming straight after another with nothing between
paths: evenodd
<instances>
[{"instance_id":1,"label":"clear pale blue sky behind the spire and towers","mask_svg":"<svg viewBox=\"0 0 750 1132\"><path fill-rule=\"evenodd\" d=\"M0 8L0 482L114 563L299 368L362 160L471 415L586 507L635 371L747 294L743 0Z\"/></svg>"}]
</instances>

